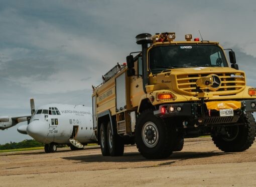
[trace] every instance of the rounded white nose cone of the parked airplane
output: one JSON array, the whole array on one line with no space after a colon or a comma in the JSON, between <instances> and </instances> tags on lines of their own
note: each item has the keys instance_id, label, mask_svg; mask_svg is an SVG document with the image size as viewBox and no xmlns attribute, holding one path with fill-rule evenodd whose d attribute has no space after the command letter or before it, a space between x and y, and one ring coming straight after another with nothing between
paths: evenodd
<instances>
[{"instance_id":1,"label":"rounded white nose cone of the parked airplane","mask_svg":"<svg viewBox=\"0 0 256 187\"><path fill-rule=\"evenodd\" d=\"M37 141L45 143L44 141L47 137L47 124L40 120L34 120L28 124L27 133Z\"/></svg>"}]
</instances>

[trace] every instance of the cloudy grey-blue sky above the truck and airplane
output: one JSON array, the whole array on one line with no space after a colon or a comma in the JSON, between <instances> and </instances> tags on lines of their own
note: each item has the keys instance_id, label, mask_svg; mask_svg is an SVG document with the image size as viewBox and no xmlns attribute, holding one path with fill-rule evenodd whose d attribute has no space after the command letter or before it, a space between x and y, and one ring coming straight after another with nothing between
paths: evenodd
<instances>
[{"instance_id":1,"label":"cloudy grey-blue sky above the truck and airplane","mask_svg":"<svg viewBox=\"0 0 256 187\"><path fill-rule=\"evenodd\" d=\"M91 85L130 52L139 33L191 33L232 48L256 86L254 0L0 0L0 115L46 103L91 106ZM0 144L31 139L17 127Z\"/></svg>"}]
</instances>

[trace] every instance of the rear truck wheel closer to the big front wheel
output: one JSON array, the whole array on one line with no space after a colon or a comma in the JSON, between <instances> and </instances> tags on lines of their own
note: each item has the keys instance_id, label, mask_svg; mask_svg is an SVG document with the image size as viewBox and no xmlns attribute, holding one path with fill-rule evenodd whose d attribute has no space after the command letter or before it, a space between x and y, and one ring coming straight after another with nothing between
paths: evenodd
<instances>
[{"instance_id":1,"label":"rear truck wheel closer to the big front wheel","mask_svg":"<svg viewBox=\"0 0 256 187\"><path fill-rule=\"evenodd\" d=\"M112 131L110 122L107 124L107 146L111 156L123 155L123 140L118 134Z\"/></svg>"}]
</instances>

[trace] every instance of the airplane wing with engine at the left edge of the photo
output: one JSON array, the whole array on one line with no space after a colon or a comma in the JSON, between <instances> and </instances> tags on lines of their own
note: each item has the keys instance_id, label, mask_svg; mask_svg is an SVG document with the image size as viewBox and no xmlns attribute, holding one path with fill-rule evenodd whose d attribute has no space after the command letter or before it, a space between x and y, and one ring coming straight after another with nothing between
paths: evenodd
<instances>
[{"instance_id":1,"label":"airplane wing with engine at the left edge of the photo","mask_svg":"<svg viewBox=\"0 0 256 187\"><path fill-rule=\"evenodd\" d=\"M4 130L16 125L19 122L27 121L30 119L31 114L13 115L13 116L0 116L0 129Z\"/></svg>"}]
</instances>

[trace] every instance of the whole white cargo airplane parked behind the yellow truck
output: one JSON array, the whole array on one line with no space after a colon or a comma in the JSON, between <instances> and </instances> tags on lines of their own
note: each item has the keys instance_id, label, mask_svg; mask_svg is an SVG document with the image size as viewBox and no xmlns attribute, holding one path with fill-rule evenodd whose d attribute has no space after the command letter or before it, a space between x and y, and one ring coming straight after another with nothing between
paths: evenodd
<instances>
[{"instance_id":1,"label":"whole white cargo airplane parked behind the yellow truck","mask_svg":"<svg viewBox=\"0 0 256 187\"><path fill-rule=\"evenodd\" d=\"M71 150L79 150L87 143L97 142L90 107L50 103L35 110L34 99L30 104L30 115L0 116L0 129L27 120L28 124L17 130L45 143L46 153L56 152L58 144L68 144Z\"/></svg>"}]
</instances>

